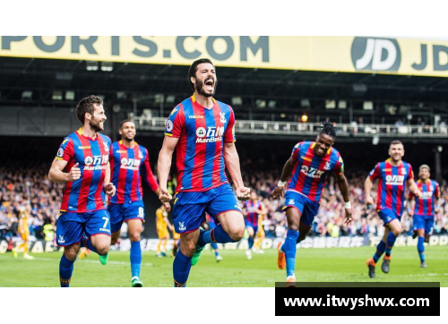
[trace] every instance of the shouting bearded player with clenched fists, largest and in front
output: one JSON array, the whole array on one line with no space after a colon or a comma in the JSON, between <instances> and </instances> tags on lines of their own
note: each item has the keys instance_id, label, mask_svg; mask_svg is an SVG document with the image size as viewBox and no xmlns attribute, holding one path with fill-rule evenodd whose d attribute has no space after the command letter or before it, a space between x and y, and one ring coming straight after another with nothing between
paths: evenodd
<instances>
[{"instance_id":1,"label":"shouting bearded player with clenched fists, largest and in front","mask_svg":"<svg viewBox=\"0 0 448 324\"><path fill-rule=\"evenodd\" d=\"M167 180L174 149L177 149L177 189L173 223L180 236L180 249L173 263L175 286L185 286L192 265L207 243L241 240L245 221L237 199L249 198L241 177L235 146L233 109L213 98L217 86L209 59L194 61L188 71L192 97L175 107L168 117L158 171L161 201L171 200ZM234 192L225 167L236 187ZM220 225L200 233L205 212Z\"/></svg>"}]
</instances>

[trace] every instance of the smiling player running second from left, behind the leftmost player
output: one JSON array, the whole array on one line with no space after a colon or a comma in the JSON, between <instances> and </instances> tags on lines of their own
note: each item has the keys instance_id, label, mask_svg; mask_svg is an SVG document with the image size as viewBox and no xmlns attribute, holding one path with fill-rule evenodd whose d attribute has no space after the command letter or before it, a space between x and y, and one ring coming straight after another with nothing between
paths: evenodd
<instances>
[{"instance_id":1,"label":"smiling player running second from left, behind the leftmost player","mask_svg":"<svg viewBox=\"0 0 448 324\"><path fill-rule=\"evenodd\" d=\"M109 160L111 168L111 182L116 186L116 196L109 200L110 228L112 231L111 244L115 245L120 237L121 226L125 221L127 233L131 240L131 283L133 287L142 287L140 270L142 268L142 248L140 246L142 222L144 221L144 205L142 192L142 178L148 183L152 191L159 196L159 184L152 175L148 149L139 145L135 139L135 124L132 120L120 123L118 132L121 141L112 144ZM169 203L165 206L170 209ZM103 264L107 256L100 259Z\"/></svg>"}]
</instances>

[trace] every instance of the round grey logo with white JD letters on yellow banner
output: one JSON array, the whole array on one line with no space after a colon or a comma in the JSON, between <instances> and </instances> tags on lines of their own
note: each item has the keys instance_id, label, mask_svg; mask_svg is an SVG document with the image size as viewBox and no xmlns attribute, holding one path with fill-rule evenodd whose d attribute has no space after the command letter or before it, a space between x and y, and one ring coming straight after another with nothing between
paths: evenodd
<instances>
[{"instance_id":1,"label":"round grey logo with white JD letters on yellow banner","mask_svg":"<svg viewBox=\"0 0 448 324\"><path fill-rule=\"evenodd\" d=\"M357 37L351 45L351 62L357 70L398 71L400 46L392 38Z\"/></svg>"}]
</instances>

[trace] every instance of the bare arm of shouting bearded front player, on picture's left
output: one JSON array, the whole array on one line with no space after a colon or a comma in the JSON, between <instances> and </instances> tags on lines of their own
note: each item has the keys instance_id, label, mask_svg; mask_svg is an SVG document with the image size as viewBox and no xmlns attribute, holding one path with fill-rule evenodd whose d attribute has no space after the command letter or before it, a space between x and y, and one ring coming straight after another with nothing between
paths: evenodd
<instances>
[{"instance_id":1,"label":"bare arm of shouting bearded front player, on picture's left","mask_svg":"<svg viewBox=\"0 0 448 324\"><path fill-rule=\"evenodd\" d=\"M162 149L159 152L159 160L157 162L157 173L159 175L159 200L162 202L169 202L173 199L168 192L167 183L169 170L171 169L171 161L173 159L173 153L177 146L176 137L165 136L163 140Z\"/></svg>"}]
</instances>

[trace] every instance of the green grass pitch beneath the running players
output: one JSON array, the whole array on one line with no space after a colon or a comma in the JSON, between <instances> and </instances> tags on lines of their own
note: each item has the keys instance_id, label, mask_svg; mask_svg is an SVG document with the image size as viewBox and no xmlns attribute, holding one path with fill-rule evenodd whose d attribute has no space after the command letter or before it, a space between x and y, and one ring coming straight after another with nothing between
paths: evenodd
<instances>
[{"instance_id":1,"label":"green grass pitch beneath the running players","mask_svg":"<svg viewBox=\"0 0 448 324\"><path fill-rule=\"evenodd\" d=\"M366 260L374 248L299 249L297 281L373 281L367 276ZM210 250L192 268L188 286L274 286L285 280L285 270L277 269L277 252L254 254L246 260L244 251L221 251L220 263ZM34 254L35 260L14 259L12 253L0 254L0 286L59 286L58 265L61 253ZM144 252L144 286L173 286L173 259L157 258ZM380 261L381 262L381 261ZM392 252L391 272L383 274L379 265L375 281L440 282L448 286L448 247L426 248L427 269L420 269L416 247L397 247ZM98 255L77 260L71 286L131 286L129 252L111 252L107 266L99 264Z\"/></svg>"}]
</instances>

